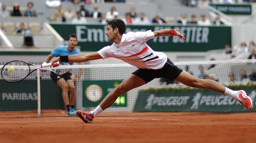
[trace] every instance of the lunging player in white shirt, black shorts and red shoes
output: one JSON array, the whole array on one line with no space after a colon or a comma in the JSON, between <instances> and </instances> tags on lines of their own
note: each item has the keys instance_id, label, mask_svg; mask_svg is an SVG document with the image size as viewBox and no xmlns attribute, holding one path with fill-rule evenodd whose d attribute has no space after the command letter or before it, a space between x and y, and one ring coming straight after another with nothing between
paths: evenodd
<instances>
[{"instance_id":1,"label":"lunging player in white shirt, black shorts and red shoes","mask_svg":"<svg viewBox=\"0 0 256 143\"><path fill-rule=\"evenodd\" d=\"M130 65L138 67L136 71L130 74L119 84L113 91L103 99L103 101L93 111L78 110L76 114L86 123L93 122L98 114L104 109L110 107L117 97L123 95L127 91L142 86L153 80L154 78L168 78L181 82L187 86L195 88L206 88L219 93L224 93L233 97L236 101L243 104L246 109L252 108L252 100L243 90L234 91L214 80L199 79L187 71L180 69L173 62L171 62L167 55L162 52L156 52L145 43L146 41L157 36L178 36L184 40L184 36L175 29L161 29L152 32L126 32L126 25L120 19L108 21L106 35L109 41L113 42L111 46L105 46L98 52L89 54L76 54L70 56L60 56L52 60L53 67L58 66L57 61L60 62L84 62L96 59L117 58Z\"/></svg>"}]
</instances>

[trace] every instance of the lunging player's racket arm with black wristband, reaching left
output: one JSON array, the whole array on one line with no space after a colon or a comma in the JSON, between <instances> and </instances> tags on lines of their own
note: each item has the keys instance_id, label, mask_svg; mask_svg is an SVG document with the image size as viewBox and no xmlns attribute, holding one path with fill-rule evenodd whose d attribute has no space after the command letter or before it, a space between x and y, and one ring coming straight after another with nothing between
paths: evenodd
<instances>
[{"instance_id":1,"label":"lunging player's racket arm with black wristband, reaching left","mask_svg":"<svg viewBox=\"0 0 256 143\"><path fill-rule=\"evenodd\" d=\"M62 59L61 59L62 58ZM61 56L57 57L52 60L52 66L57 67L59 64L56 64L56 62L65 61L65 62L72 62L72 63L82 63L85 61L91 61L91 60L96 60L96 59L102 59L101 55L98 52L92 52L89 54L74 54L74 55L69 55L69 56Z\"/></svg>"}]
</instances>

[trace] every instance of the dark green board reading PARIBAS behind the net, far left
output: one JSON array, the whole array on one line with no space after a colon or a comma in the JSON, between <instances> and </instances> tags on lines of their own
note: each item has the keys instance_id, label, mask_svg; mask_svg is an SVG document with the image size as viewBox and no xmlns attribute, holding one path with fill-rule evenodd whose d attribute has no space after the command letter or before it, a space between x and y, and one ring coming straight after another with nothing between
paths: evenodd
<instances>
[{"instance_id":1,"label":"dark green board reading PARIBAS behind the net, far left","mask_svg":"<svg viewBox=\"0 0 256 143\"><path fill-rule=\"evenodd\" d=\"M37 80L0 85L0 111L37 110ZM41 109L65 109L62 90L52 80L41 80Z\"/></svg>"}]
</instances>

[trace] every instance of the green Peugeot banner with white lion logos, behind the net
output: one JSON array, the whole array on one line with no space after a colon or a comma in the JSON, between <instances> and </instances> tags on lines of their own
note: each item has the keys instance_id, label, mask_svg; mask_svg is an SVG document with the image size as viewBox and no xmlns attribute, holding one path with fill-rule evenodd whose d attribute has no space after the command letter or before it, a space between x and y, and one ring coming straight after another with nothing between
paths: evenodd
<instances>
[{"instance_id":1,"label":"green Peugeot banner with white lion logos, behind the net","mask_svg":"<svg viewBox=\"0 0 256 143\"><path fill-rule=\"evenodd\" d=\"M256 104L256 90L245 89ZM134 111L207 111L239 112L248 111L232 97L211 90L140 91ZM250 111L256 111L256 108Z\"/></svg>"}]
</instances>

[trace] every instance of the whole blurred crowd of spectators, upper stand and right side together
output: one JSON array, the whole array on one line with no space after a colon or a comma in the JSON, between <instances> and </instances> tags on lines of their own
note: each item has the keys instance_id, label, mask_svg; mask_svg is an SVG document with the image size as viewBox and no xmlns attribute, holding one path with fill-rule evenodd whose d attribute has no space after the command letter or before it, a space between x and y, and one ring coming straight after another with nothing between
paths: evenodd
<instances>
[{"instance_id":1,"label":"whole blurred crowd of spectators, upper stand and right side together","mask_svg":"<svg viewBox=\"0 0 256 143\"><path fill-rule=\"evenodd\" d=\"M67 9L63 9L61 3L62 2L72 2L75 4L79 4L79 8L77 10L73 10L72 6L68 6ZM46 0L46 5L51 8L56 8L54 14L50 16L50 21L68 21L73 24L86 24L87 18L97 19L99 23L106 24L107 21L111 19L122 19L128 25L152 25L158 24L162 25L168 23L165 20L165 17L161 17L159 13L156 13L152 19L148 19L146 13L137 13L136 6L130 6L130 11L127 11L125 15L119 15L119 11L115 6L112 6L109 11L100 11L98 3L103 2L125 2L125 0ZM193 7L205 7L209 3L213 4L243 4L244 2L256 2L256 0L183 0L182 3L186 6ZM89 11L85 4L93 3L93 11ZM37 11L34 9L33 2L27 3L26 11L23 13L20 11L20 6L18 2L13 4L13 10L7 11L7 6L2 4L2 9L0 11L0 17L37 17ZM219 15L217 15L214 21L211 21L206 14L200 15L200 18L197 18L195 14L190 13L190 17L187 16L186 13L181 13L180 17L177 17L172 23L176 23L178 25L201 25L201 26L223 26L225 23L221 21ZM23 22L20 23L19 29L16 29L17 34L24 34L27 29L27 25ZM248 59L256 59L256 44L254 41L250 42L241 42L240 45L236 45L231 47L230 45L225 45L226 54L229 54L231 58L234 58L243 53L250 53ZM211 59L215 60L215 59ZM207 70L214 68L215 65L209 65ZM185 69L187 72L193 75L191 71L189 71L189 66L186 66ZM198 78L201 79L211 79L218 81L213 76L209 76L205 74L204 66L199 66L200 74ZM229 74L230 82L236 81L256 81L256 69L253 69L251 74L247 74L245 69L241 69L239 77L235 77L234 73ZM162 84L172 84L175 83L174 80L161 79L160 82Z\"/></svg>"}]
</instances>

